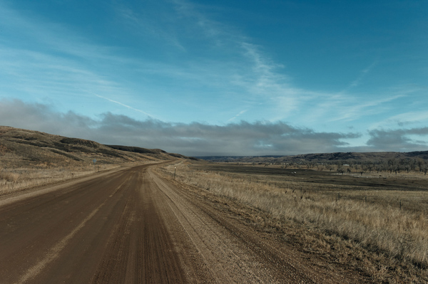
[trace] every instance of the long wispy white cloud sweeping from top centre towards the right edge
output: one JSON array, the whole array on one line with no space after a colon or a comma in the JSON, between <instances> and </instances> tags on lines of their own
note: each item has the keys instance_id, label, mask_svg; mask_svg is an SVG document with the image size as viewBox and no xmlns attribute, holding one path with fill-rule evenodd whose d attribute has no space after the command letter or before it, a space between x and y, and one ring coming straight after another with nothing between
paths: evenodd
<instances>
[{"instance_id":1,"label":"long wispy white cloud sweeping from top centre towards the right edge","mask_svg":"<svg viewBox=\"0 0 428 284\"><path fill-rule=\"evenodd\" d=\"M190 23L189 26L194 28L195 34L208 38L215 48L227 49L236 55L234 62L226 63L223 58L217 66L213 61L198 58L198 62L193 63L190 69L175 68L171 76L185 76L188 80L205 82L213 88L218 87L219 90L230 90L234 86L237 89L230 97L234 97L235 102L240 102L245 107L258 107L258 113L263 115L263 119L299 120L302 125L320 120L332 123L353 122L361 117L370 117L374 112L389 110L384 106L387 102L402 98L401 95L384 95L373 100L376 96L367 95L371 97L367 100L362 99L361 95L352 95L351 90L370 75L378 61L361 70L360 75L341 92L325 93L293 85L291 76L285 74L284 67L272 61L263 53L263 48L253 43L251 38L233 27L210 19L190 1L171 2L176 6L180 21ZM228 64L228 67L237 67L222 70L221 65L225 64ZM230 122L238 116L225 121Z\"/></svg>"}]
</instances>

